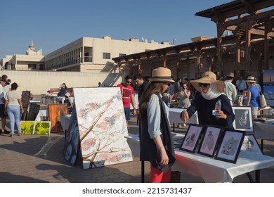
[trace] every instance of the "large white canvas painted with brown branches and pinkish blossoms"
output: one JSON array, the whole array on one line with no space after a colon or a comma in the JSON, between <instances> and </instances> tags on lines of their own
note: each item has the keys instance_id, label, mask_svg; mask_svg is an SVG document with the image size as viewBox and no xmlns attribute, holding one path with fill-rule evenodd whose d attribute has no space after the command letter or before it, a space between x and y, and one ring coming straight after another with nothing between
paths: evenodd
<instances>
[{"instance_id":1,"label":"large white canvas painted with brown branches and pinkish blossoms","mask_svg":"<svg viewBox=\"0 0 274 197\"><path fill-rule=\"evenodd\" d=\"M74 103L84 169L133 160L118 87L74 88Z\"/></svg>"}]
</instances>

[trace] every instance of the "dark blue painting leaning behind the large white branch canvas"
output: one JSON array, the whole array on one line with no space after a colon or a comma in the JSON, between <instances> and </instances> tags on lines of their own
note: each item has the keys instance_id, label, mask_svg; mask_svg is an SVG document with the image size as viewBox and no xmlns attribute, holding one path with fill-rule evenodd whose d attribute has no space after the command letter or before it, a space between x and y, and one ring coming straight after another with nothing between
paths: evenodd
<instances>
[{"instance_id":1,"label":"dark blue painting leaning behind the large white branch canvas","mask_svg":"<svg viewBox=\"0 0 274 197\"><path fill-rule=\"evenodd\" d=\"M77 124L77 116L75 108L72 108L72 116L70 117L70 125L65 130L65 147L63 154L65 160L72 165L76 165L80 148L79 129Z\"/></svg>"}]
</instances>

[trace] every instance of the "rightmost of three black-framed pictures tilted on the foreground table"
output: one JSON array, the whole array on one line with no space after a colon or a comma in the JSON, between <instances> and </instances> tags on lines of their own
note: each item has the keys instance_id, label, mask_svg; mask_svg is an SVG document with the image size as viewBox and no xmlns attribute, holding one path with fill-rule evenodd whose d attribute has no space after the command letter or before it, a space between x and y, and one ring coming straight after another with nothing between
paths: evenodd
<instances>
[{"instance_id":1,"label":"rightmost of three black-framed pictures tilted on the foreground table","mask_svg":"<svg viewBox=\"0 0 274 197\"><path fill-rule=\"evenodd\" d=\"M218 146L216 160L223 160L229 163L236 163L244 140L244 131L226 129Z\"/></svg>"}]
</instances>

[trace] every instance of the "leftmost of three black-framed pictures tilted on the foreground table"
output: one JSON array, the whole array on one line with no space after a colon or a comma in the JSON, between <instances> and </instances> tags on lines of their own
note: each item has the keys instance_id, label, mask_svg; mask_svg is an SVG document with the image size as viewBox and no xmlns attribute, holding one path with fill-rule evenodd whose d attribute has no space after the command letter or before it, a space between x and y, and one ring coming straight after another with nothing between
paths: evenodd
<instances>
[{"instance_id":1,"label":"leftmost of three black-framed pictures tilted on the foreground table","mask_svg":"<svg viewBox=\"0 0 274 197\"><path fill-rule=\"evenodd\" d=\"M180 149L182 151L195 153L195 149L197 148L203 129L204 126L190 124L188 127L188 131L185 133L185 137L182 141Z\"/></svg>"}]
</instances>

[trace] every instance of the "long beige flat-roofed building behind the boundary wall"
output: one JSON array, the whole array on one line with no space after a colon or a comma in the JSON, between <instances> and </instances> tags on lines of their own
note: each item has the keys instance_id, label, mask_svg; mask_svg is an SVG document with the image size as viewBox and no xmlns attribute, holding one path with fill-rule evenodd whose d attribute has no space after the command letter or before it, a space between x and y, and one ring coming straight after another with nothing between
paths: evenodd
<instances>
[{"instance_id":1,"label":"long beige flat-roofed building behind the boundary wall","mask_svg":"<svg viewBox=\"0 0 274 197\"><path fill-rule=\"evenodd\" d=\"M171 46L169 42L148 42L139 39L117 40L81 37L60 49L42 56L41 49L35 51L32 44L25 55L15 54L1 60L4 70L53 70L74 72L117 72L112 58L131 53L162 49Z\"/></svg>"}]
</instances>

